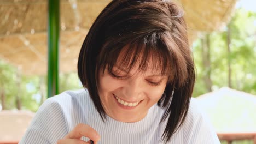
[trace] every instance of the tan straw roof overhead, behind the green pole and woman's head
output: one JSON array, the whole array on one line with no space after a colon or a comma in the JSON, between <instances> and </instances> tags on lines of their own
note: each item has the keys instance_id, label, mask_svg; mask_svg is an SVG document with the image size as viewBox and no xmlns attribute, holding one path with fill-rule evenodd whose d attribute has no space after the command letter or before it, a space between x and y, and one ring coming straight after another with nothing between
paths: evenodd
<instances>
[{"instance_id":1,"label":"tan straw roof overhead, behind the green pole and woman's head","mask_svg":"<svg viewBox=\"0 0 256 144\"><path fill-rule=\"evenodd\" d=\"M96 16L109 0L62 0L60 6L60 71L76 70L80 47ZM179 0L190 38L199 31L219 29L229 20L236 0ZM0 1L0 59L26 75L46 74L47 1Z\"/></svg>"}]
</instances>

